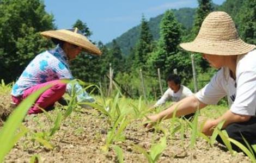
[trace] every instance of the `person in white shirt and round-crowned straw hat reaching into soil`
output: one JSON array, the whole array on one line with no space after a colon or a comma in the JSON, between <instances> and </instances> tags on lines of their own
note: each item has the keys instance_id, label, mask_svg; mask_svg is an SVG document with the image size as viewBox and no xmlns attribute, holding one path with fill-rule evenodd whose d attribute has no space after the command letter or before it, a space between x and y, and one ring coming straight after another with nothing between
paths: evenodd
<instances>
[{"instance_id":1,"label":"person in white shirt and round-crowned straw hat reaching into soil","mask_svg":"<svg viewBox=\"0 0 256 163\"><path fill-rule=\"evenodd\" d=\"M209 84L195 95L187 97L159 114L149 116L153 122L176 116L187 115L206 105L217 104L228 97L230 108L216 120L204 124L203 133L212 135L213 129L225 121L222 129L229 137L245 145L243 137L256 144L256 50L255 45L243 42L236 31L231 17L221 11L211 12L203 21L199 33L192 42L181 43L186 51L203 55L214 68L219 69ZM153 123L145 124L151 127ZM217 141L222 143L220 137ZM246 146L246 145L245 145ZM233 145L233 149L239 150Z\"/></svg>"}]
</instances>

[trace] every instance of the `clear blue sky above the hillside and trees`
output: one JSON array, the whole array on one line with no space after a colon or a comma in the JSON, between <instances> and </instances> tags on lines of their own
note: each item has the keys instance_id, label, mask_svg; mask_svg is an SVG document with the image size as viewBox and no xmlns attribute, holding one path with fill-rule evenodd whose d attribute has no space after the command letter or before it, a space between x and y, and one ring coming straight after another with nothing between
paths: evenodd
<instances>
[{"instance_id":1,"label":"clear blue sky above the hillside and trees","mask_svg":"<svg viewBox=\"0 0 256 163\"><path fill-rule=\"evenodd\" d=\"M224 0L213 0L222 4ZM91 40L107 43L137 26L142 14L147 19L167 9L196 8L197 0L45 0L46 11L54 15L58 29L70 28L77 19L93 32Z\"/></svg>"}]
</instances>

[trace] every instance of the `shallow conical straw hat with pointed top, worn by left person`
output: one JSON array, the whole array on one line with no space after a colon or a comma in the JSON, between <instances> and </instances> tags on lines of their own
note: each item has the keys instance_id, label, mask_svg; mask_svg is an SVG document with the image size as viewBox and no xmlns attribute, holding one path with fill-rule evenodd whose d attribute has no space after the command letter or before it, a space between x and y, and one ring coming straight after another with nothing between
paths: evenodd
<instances>
[{"instance_id":1,"label":"shallow conical straw hat with pointed top, worn by left person","mask_svg":"<svg viewBox=\"0 0 256 163\"><path fill-rule=\"evenodd\" d=\"M65 42L72 43L83 49L83 51L100 55L101 51L86 36L84 36L78 28L60 29L60 30L47 30L41 32L41 35L50 39L51 37Z\"/></svg>"}]
</instances>

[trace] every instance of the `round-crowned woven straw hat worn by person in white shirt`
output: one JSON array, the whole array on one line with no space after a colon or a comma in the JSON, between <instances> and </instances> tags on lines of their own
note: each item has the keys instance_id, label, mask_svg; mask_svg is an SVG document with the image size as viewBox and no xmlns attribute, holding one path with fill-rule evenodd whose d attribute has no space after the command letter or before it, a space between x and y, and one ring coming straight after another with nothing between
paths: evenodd
<instances>
[{"instance_id":1,"label":"round-crowned woven straw hat worn by person in white shirt","mask_svg":"<svg viewBox=\"0 0 256 163\"><path fill-rule=\"evenodd\" d=\"M203 21L196 39L180 46L186 51L212 55L240 55L256 47L239 38L232 18L222 11L211 12Z\"/></svg>"}]
</instances>

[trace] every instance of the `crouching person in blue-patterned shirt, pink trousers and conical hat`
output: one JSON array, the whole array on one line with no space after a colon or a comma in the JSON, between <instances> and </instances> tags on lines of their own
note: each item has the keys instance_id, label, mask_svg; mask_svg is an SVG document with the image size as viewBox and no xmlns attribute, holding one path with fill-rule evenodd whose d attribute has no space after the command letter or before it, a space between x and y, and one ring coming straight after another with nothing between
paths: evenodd
<instances>
[{"instance_id":1,"label":"crouching person in blue-patterned shirt, pink trousers and conical hat","mask_svg":"<svg viewBox=\"0 0 256 163\"><path fill-rule=\"evenodd\" d=\"M25 68L11 92L15 105L48 84L53 86L40 95L28 114L38 114L42 112L40 108L51 110L65 92L71 94L73 87L78 102L94 102L94 99L77 82L72 85L65 84L61 80L74 79L69 61L75 59L81 51L100 55L100 50L78 28L49 30L42 32L41 35L51 39L56 47L36 55Z\"/></svg>"}]
</instances>

